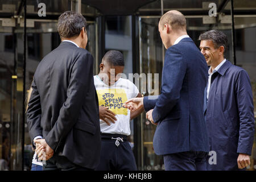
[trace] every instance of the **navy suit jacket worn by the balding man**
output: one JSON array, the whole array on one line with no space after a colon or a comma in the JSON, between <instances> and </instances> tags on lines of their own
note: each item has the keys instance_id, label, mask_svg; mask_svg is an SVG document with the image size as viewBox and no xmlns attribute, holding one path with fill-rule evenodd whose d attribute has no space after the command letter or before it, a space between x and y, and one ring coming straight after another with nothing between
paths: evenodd
<instances>
[{"instance_id":1,"label":"navy suit jacket worn by the balding man","mask_svg":"<svg viewBox=\"0 0 256 182\"><path fill-rule=\"evenodd\" d=\"M161 93L156 100L144 97L144 109L154 109L152 117L158 123L156 154L209 151L203 114L207 76L207 63L191 38L167 49Z\"/></svg>"}]
</instances>

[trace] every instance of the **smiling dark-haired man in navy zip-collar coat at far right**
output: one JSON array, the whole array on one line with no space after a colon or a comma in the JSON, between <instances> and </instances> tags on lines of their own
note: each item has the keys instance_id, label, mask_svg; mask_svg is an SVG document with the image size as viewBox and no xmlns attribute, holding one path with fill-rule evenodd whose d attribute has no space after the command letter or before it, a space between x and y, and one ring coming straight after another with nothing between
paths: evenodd
<instances>
[{"instance_id":1,"label":"smiling dark-haired man in navy zip-collar coat at far right","mask_svg":"<svg viewBox=\"0 0 256 182\"><path fill-rule=\"evenodd\" d=\"M250 165L254 140L250 78L245 69L224 59L228 38L223 32L207 31L199 40L201 53L210 66L204 114L210 151L216 154L216 160L210 161L207 169L245 170Z\"/></svg>"}]
</instances>

